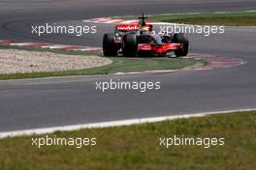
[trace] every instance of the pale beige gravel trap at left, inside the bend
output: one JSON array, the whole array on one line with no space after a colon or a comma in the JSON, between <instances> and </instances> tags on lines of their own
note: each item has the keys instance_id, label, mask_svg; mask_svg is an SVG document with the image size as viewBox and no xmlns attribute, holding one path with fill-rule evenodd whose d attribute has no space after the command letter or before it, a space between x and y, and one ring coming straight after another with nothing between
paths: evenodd
<instances>
[{"instance_id":1,"label":"pale beige gravel trap at left, inside the bend","mask_svg":"<svg viewBox=\"0 0 256 170\"><path fill-rule=\"evenodd\" d=\"M107 58L92 55L0 49L0 74L83 70L111 63Z\"/></svg>"}]
</instances>

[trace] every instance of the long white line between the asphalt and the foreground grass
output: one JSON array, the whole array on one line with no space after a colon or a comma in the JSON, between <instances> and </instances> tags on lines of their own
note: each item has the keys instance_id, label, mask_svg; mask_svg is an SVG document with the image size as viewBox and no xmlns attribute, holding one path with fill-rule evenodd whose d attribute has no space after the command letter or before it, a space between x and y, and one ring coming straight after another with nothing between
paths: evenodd
<instances>
[{"instance_id":1,"label":"long white line between the asphalt and the foreground grass","mask_svg":"<svg viewBox=\"0 0 256 170\"><path fill-rule=\"evenodd\" d=\"M213 112L203 112L203 113L196 113L196 114L184 114L184 115L162 116L162 117L152 117L152 118L139 118L139 119L120 120L120 121L92 123L92 124L81 124L81 125L74 125L74 126L23 129L23 130L16 130L16 131L0 132L0 139L6 138L6 137L22 136L22 135L52 133L52 132L55 132L55 131L71 131L71 130L78 130L78 129L81 129L81 128L121 127L121 126L130 126L130 125L145 124L145 123L156 123L156 122L169 121L169 120L175 120L175 119L204 117L204 116L213 115L213 114L245 112L245 111L255 111L255 110L256 110L256 108L226 110L226 111L213 111Z\"/></svg>"}]
</instances>

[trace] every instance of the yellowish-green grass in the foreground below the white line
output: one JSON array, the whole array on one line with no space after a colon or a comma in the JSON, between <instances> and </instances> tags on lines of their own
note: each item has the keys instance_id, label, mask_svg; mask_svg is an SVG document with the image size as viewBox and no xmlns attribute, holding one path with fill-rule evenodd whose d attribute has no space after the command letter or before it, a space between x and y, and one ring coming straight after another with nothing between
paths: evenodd
<instances>
[{"instance_id":1,"label":"yellowish-green grass in the foreground below the white line","mask_svg":"<svg viewBox=\"0 0 256 170\"><path fill-rule=\"evenodd\" d=\"M159 146L159 137L224 137L224 146ZM53 134L49 134L53 136ZM31 136L0 140L5 170L254 170L256 112L220 114L119 128L56 132L58 137L96 137L97 145L31 146ZM44 136L44 135L41 135ZM36 137L36 136L32 136Z\"/></svg>"}]
</instances>

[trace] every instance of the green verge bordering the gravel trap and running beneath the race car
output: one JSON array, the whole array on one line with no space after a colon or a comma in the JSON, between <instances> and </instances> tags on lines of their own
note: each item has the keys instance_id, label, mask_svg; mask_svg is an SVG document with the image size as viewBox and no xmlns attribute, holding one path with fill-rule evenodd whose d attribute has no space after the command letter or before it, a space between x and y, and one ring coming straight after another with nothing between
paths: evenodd
<instances>
[{"instance_id":1,"label":"green verge bordering the gravel trap and running beneath the race car","mask_svg":"<svg viewBox=\"0 0 256 170\"><path fill-rule=\"evenodd\" d=\"M89 55L89 53L82 51L61 51L61 50L50 50L38 47L20 47L20 46L9 46L0 45L0 48L16 48L23 50L39 50L55 53L64 53L72 55ZM96 53L94 55L101 55ZM127 58L127 57L111 57L112 64L93 69L85 69L78 71L53 71L53 72L33 72L33 73L16 73L16 74L0 74L0 80L5 79L20 79L20 78L35 78L35 77L49 77L49 76L67 76L67 75L93 75L93 74L108 74L115 72L128 72L128 71L153 71L153 70L178 70L187 67L200 67L205 65L201 61L195 61L192 59L184 58Z\"/></svg>"}]
</instances>

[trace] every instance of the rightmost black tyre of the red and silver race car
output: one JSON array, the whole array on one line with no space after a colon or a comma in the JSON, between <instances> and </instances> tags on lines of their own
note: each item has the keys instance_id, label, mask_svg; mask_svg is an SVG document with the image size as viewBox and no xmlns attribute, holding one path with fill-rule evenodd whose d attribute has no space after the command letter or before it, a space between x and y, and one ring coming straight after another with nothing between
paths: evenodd
<instances>
[{"instance_id":1,"label":"rightmost black tyre of the red and silver race car","mask_svg":"<svg viewBox=\"0 0 256 170\"><path fill-rule=\"evenodd\" d=\"M186 35L183 33L176 33L174 35L174 42L181 43L183 45L183 48L175 50L176 57L186 56L188 53L188 45L189 45Z\"/></svg>"}]
</instances>

